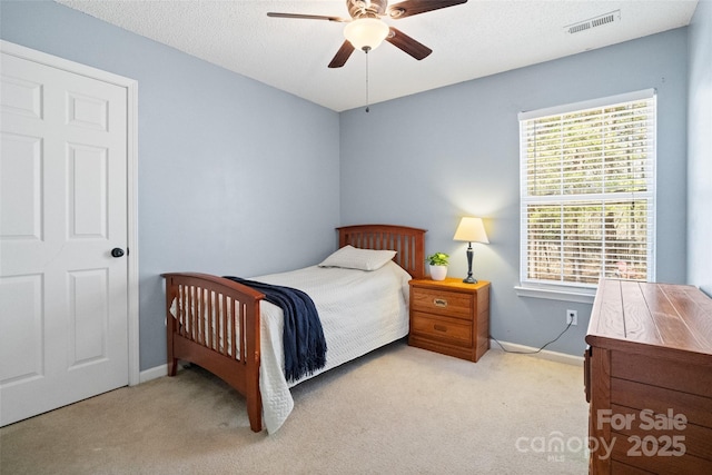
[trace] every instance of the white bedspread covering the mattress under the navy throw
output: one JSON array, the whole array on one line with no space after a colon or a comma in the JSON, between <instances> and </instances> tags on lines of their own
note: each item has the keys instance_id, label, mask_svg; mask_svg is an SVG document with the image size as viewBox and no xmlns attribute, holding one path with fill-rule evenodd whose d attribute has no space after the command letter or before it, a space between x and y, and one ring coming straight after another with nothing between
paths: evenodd
<instances>
[{"instance_id":1,"label":"white bedspread covering the mattress under the navy throw","mask_svg":"<svg viewBox=\"0 0 712 475\"><path fill-rule=\"evenodd\" d=\"M411 276L395 263L372 271L313 266L250 278L306 291L319 311L328 348L326 367L298 382L287 383L281 309L265 300L260 303L259 389L268 433L279 429L294 408L289 387L408 334Z\"/></svg>"}]
</instances>

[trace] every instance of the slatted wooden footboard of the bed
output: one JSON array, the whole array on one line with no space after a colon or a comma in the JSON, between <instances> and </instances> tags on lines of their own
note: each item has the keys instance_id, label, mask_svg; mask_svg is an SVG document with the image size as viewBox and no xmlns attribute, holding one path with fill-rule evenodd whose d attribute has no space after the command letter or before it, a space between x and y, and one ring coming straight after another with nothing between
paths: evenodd
<instances>
[{"instance_id":1,"label":"slatted wooden footboard of the bed","mask_svg":"<svg viewBox=\"0 0 712 475\"><path fill-rule=\"evenodd\" d=\"M259 301L265 296L207 274L162 277L168 374L176 375L178 359L215 374L245 396L250 428L261 431Z\"/></svg>"}]
</instances>

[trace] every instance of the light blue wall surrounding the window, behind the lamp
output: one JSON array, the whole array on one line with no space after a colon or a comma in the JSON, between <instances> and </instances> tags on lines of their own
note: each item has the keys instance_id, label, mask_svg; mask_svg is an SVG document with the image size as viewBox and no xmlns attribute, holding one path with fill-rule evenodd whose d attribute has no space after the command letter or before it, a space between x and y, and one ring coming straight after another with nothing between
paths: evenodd
<instances>
[{"instance_id":1,"label":"light blue wall surrounding the window, behind the lamp","mask_svg":"<svg viewBox=\"0 0 712 475\"><path fill-rule=\"evenodd\" d=\"M686 273L686 29L584 52L340 115L342 221L428 229L426 251L453 256L466 274L458 218L482 216L490 245L475 245L474 274L492 281L491 333L581 355L591 305L518 297L517 112L646 88L657 90L657 279ZM472 59L476 60L476 59Z\"/></svg>"}]
</instances>

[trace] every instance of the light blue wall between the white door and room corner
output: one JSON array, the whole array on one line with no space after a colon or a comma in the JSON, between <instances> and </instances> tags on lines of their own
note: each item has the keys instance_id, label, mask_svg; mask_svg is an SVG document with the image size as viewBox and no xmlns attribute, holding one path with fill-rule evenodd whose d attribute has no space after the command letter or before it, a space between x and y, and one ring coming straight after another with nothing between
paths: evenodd
<instances>
[{"instance_id":1,"label":"light blue wall between the white door and room corner","mask_svg":"<svg viewBox=\"0 0 712 475\"><path fill-rule=\"evenodd\" d=\"M254 276L335 248L336 112L55 2L0 16L3 40L138 80L141 369L166 363L160 273Z\"/></svg>"}]
</instances>

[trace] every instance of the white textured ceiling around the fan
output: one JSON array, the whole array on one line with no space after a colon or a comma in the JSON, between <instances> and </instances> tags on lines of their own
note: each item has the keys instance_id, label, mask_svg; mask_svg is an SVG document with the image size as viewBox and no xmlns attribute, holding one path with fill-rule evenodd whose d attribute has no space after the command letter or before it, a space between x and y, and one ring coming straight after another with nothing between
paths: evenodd
<instances>
[{"instance_id":1,"label":"white textured ceiling around the fan","mask_svg":"<svg viewBox=\"0 0 712 475\"><path fill-rule=\"evenodd\" d=\"M433 49L422 61L384 42L368 62L355 51L343 68L329 69L346 23L267 12L348 18L345 0L56 1L336 111L365 106L367 90L368 102L376 103L684 27L698 3L469 0L385 19ZM611 23L567 32L567 26L610 12L616 12Z\"/></svg>"}]
</instances>

